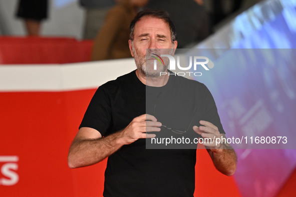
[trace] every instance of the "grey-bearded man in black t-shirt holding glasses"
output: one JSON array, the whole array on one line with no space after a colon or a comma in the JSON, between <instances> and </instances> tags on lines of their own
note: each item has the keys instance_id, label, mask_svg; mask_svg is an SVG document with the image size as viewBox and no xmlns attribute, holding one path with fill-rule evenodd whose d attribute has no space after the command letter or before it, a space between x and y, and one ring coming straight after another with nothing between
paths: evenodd
<instances>
[{"instance_id":1,"label":"grey-bearded man in black t-shirt holding glasses","mask_svg":"<svg viewBox=\"0 0 296 197\"><path fill-rule=\"evenodd\" d=\"M175 75L160 76L161 71L167 71L168 61L154 69L150 53L159 54L164 48L173 55L177 47L175 27L167 12L139 12L130 25L129 47L137 69L98 88L71 144L68 164L82 167L108 157L104 196L193 196L196 149L146 149L145 139L159 133L178 135L184 130L202 137L224 137L214 100L202 83ZM147 89L153 90L148 107ZM165 108L163 101L170 102L171 97L184 93L182 99L195 102L181 104L187 107L180 111L186 119L155 117L162 112L177 113ZM182 131L175 129L179 126L176 122ZM232 175L236 169L234 150L225 143L205 145L216 168Z\"/></svg>"}]
</instances>

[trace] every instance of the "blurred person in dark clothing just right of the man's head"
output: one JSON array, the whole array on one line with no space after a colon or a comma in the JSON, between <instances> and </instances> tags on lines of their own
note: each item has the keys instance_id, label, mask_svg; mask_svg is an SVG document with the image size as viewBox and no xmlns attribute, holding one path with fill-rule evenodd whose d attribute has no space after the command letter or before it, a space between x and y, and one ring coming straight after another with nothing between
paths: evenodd
<instances>
[{"instance_id":1,"label":"blurred person in dark clothing just right of the man's head","mask_svg":"<svg viewBox=\"0 0 296 197\"><path fill-rule=\"evenodd\" d=\"M178 32L178 48L189 48L210 34L210 18L202 0L150 0L146 7L169 12Z\"/></svg>"}]
</instances>

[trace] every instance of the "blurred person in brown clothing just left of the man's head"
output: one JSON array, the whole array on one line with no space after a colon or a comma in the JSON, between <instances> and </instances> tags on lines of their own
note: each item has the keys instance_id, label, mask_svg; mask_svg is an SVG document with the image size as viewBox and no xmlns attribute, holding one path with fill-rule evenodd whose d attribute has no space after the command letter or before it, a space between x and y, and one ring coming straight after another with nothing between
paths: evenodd
<instances>
[{"instance_id":1,"label":"blurred person in brown clothing just left of the man's head","mask_svg":"<svg viewBox=\"0 0 296 197\"><path fill-rule=\"evenodd\" d=\"M92 60L132 57L127 45L130 23L140 7L148 0L118 0L110 9L104 25L98 32L92 51Z\"/></svg>"}]
</instances>

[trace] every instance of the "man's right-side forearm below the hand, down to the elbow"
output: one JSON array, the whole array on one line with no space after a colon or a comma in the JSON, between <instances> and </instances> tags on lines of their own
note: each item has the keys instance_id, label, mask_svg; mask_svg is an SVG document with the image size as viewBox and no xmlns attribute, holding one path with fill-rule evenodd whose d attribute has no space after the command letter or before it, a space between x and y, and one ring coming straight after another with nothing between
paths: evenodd
<instances>
[{"instance_id":1,"label":"man's right-side forearm below the hand, down to the elbow","mask_svg":"<svg viewBox=\"0 0 296 197\"><path fill-rule=\"evenodd\" d=\"M230 145L224 145L224 149L208 149L208 152L213 160L215 167L223 174L231 176L236 169L237 156L230 147Z\"/></svg>"}]
</instances>

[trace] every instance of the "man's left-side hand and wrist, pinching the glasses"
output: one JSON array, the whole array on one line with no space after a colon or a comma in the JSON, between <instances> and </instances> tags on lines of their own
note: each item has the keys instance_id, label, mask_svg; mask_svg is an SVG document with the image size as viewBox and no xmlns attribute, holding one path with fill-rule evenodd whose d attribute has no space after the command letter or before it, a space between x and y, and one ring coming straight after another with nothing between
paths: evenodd
<instances>
[{"instance_id":1,"label":"man's left-side hand and wrist, pinching the glasses","mask_svg":"<svg viewBox=\"0 0 296 197\"><path fill-rule=\"evenodd\" d=\"M135 117L127 127L119 132L121 143L130 144L139 138L153 138L156 135L149 132L160 131L161 125L161 122L150 114Z\"/></svg>"}]
</instances>

